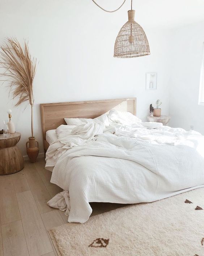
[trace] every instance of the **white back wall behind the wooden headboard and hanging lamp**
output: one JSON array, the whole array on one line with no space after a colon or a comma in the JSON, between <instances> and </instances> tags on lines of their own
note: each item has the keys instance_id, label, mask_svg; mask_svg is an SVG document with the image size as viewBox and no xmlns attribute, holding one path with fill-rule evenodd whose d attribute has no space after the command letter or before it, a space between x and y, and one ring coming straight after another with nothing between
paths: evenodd
<instances>
[{"instance_id":1,"label":"white back wall behind the wooden headboard and hanging lamp","mask_svg":"<svg viewBox=\"0 0 204 256\"><path fill-rule=\"evenodd\" d=\"M118 5L118 1L115 3ZM30 52L39 61L34 80L34 135L41 153L40 103L137 97L137 116L146 120L149 104L159 98L162 114L169 114L168 31L143 26L151 55L113 57L115 38L127 21L128 9L126 4L118 12L105 13L90 0L61 0L60 4L21 0L13 9L1 9L0 43L4 37L16 36L20 42L29 38ZM138 20L141 25L143 19L146 16ZM157 90L145 90L146 72L158 73ZM30 107L23 111L26 104L16 108L14 103L2 85L0 120L7 118L7 109L13 110L12 120L22 134L18 145L26 155L25 143L31 135Z\"/></svg>"}]
</instances>

